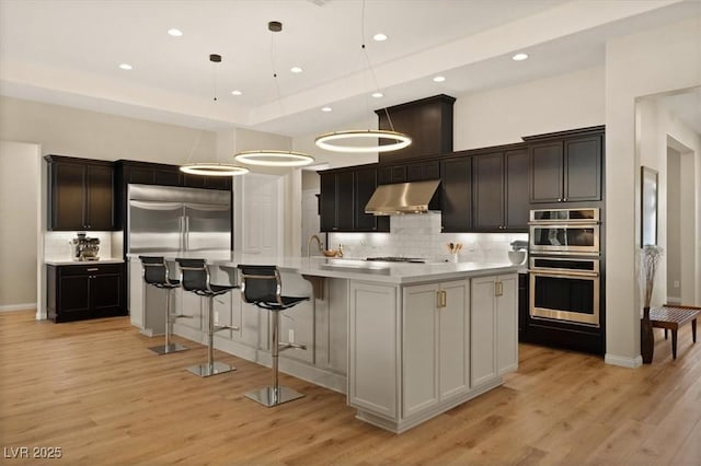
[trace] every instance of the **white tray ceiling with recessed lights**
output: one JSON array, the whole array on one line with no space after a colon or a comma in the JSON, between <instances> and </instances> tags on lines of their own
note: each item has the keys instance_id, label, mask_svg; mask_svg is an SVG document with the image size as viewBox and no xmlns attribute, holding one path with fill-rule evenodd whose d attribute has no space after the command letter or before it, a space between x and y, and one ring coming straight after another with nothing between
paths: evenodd
<instances>
[{"instance_id":1,"label":"white tray ceiling with recessed lights","mask_svg":"<svg viewBox=\"0 0 701 466\"><path fill-rule=\"evenodd\" d=\"M699 14L698 0L0 0L0 94L311 135L429 95L604 66L609 38Z\"/></svg>"}]
</instances>

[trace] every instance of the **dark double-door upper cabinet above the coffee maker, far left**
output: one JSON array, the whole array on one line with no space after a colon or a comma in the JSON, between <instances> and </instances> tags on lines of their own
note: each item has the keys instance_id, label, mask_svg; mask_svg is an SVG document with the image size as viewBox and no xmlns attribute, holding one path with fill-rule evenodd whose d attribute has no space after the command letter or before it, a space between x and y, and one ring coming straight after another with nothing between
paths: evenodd
<instances>
[{"instance_id":1,"label":"dark double-door upper cabinet above the coffee maker, far left","mask_svg":"<svg viewBox=\"0 0 701 466\"><path fill-rule=\"evenodd\" d=\"M48 228L115 230L115 174L111 162L47 155Z\"/></svg>"}]
</instances>

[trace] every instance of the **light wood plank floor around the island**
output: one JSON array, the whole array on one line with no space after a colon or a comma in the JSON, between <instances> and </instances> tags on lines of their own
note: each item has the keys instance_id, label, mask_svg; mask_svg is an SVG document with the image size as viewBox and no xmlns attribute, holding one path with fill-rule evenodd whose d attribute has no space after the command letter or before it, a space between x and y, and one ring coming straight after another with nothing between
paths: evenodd
<instances>
[{"instance_id":1,"label":"light wood plank floor around the island","mask_svg":"<svg viewBox=\"0 0 701 466\"><path fill-rule=\"evenodd\" d=\"M659 330L656 330L659 331ZM127 318L54 324L0 313L0 464L11 447L60 447L41 464L701 464L701 342L679 354L656 334L655 361L636 370L521 345L520 369L496 388L401 435L354 418L345 396L283 375L306 398L264 408L244 393L269 369L226 353L238 371L199 378L189 341L160 339Z\"/></svg>"}]
</instances>

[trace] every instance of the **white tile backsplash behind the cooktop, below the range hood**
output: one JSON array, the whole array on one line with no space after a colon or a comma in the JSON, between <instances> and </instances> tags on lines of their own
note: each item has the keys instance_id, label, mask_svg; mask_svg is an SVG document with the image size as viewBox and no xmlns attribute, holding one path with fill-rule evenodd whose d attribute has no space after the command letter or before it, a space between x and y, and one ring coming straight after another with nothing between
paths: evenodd
<instances>
[{"instance_id":1,"label":"white tile backsplash behind the cooktop, below the range hood","mask_svg":"<svg viewBox=\"0 0 701 466\"><path fill-rule=\"evenodd\" d=\"M440 233L440 213L390 217L391 233L330 233L329 247L343 244L344 257L371 256L421 257L447 260L448 243L462 243L460 261L504 263L516 240L527 241L527 233Z\"/></svg>"}]
</instances>

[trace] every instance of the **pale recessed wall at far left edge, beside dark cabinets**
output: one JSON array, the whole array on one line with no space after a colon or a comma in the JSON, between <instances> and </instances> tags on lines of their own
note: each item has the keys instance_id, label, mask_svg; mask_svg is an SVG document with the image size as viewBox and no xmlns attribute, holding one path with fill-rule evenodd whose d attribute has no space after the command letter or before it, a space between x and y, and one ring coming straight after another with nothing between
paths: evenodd
<instances>
[{"instance_id":1,"label":"pale recessed wall at far left edge, beside dark cabinets","mask_svg":"<svg viewBox=\"0 0 701 466\"><path fill-rule=\"evenodd\" d=\"M0 311L36 305L39 147L0 141Z\"/></svg>"}]
</instances>

